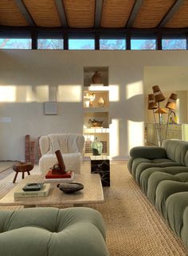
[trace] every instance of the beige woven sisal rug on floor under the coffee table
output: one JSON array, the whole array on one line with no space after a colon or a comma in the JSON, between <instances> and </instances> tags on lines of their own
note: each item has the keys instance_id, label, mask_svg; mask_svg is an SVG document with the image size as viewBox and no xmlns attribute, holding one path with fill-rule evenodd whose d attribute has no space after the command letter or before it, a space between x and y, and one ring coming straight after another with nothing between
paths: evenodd
<instances>
[{"instance_id":1,"label":"beige woven sisal rug on floor under the coffee table","mask_svg":"<svg viewBox=\"0 0 188 256\"><path fill-rule=\"evenodd\" d=\"M84 164L83 172L90 170ZM37 174L34 168L32 174ZM14 174L0 180L0 197L11 187ZM19 182L19 178L18 178ZM154 206L147 201L127 164L111 166L111 186L104 187L104 203L87 205L103 215L107 230L107 246L111 256L186 256L182 242L166 226ZM18 209L7 206L0 209ZM96 255L97 256L97 255Z\"/></svg>"}]
</instances>

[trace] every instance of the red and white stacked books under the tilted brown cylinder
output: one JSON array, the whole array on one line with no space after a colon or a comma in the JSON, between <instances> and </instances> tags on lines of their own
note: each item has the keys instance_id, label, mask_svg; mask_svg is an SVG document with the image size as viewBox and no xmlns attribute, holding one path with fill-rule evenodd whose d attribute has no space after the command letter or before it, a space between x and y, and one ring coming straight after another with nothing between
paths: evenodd
<instances>
[{"instance_id":1,"label":"red and white stacked books under the tilted brown cylinder","mask_svg":"<svg viewBox=\"0 0 188 256\"><path fill-rule=\"evenodd\" d=\"M50 182L72 182L74 173L70 170L63 174L54 173L53 170L49 170L48 173L45 175L45 181Z\"/></svg>"}]
</instances>

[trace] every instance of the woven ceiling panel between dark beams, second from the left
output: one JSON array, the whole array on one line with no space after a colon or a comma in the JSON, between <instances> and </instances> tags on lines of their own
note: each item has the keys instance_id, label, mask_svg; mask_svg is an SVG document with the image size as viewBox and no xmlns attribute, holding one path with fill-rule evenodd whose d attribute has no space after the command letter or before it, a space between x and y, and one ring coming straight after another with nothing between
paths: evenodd
<instances>
[{"instance_id":1,"label":"woven ceiling panel between dark beams, second from the left","mask_svg":"<svg viewBox=\"0 0 188 256\"><path fill-rule=\"evenodd\" d=\"M24 3L37 26L61 26L54 0L24 0Z\"/></svg>"}]
</instances>

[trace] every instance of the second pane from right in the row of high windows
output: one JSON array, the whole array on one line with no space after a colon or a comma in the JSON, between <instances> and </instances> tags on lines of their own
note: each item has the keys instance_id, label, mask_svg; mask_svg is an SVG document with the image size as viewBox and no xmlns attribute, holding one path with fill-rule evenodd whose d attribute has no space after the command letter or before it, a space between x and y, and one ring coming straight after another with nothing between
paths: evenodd
<instances>
[{"instance_id":1,"label":"second pane from right in the row of high windows","mask_svg":"<svg viewBox=\"0 0 188 256\"><path fill-rule=\"evenodd\" d=\"M156 50L156 40L131 39L131 50Z\"/></svg>"}]
</instances>

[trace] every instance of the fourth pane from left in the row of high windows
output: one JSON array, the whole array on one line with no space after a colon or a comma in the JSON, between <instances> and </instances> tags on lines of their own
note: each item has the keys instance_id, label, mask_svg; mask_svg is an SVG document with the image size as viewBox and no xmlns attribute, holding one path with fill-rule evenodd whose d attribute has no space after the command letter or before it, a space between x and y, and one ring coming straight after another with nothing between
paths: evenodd
<instances>
[{"instance_id":1,"label":"fourth pane from left in the row of high windows","mask_svg":"<svg viewBox=\"0 0 188 256\"><path fill-rule=\"evenodd\" d=\"M100 50L125 50L125 39L100 39Z\"/></svg>"}]
</instances>

